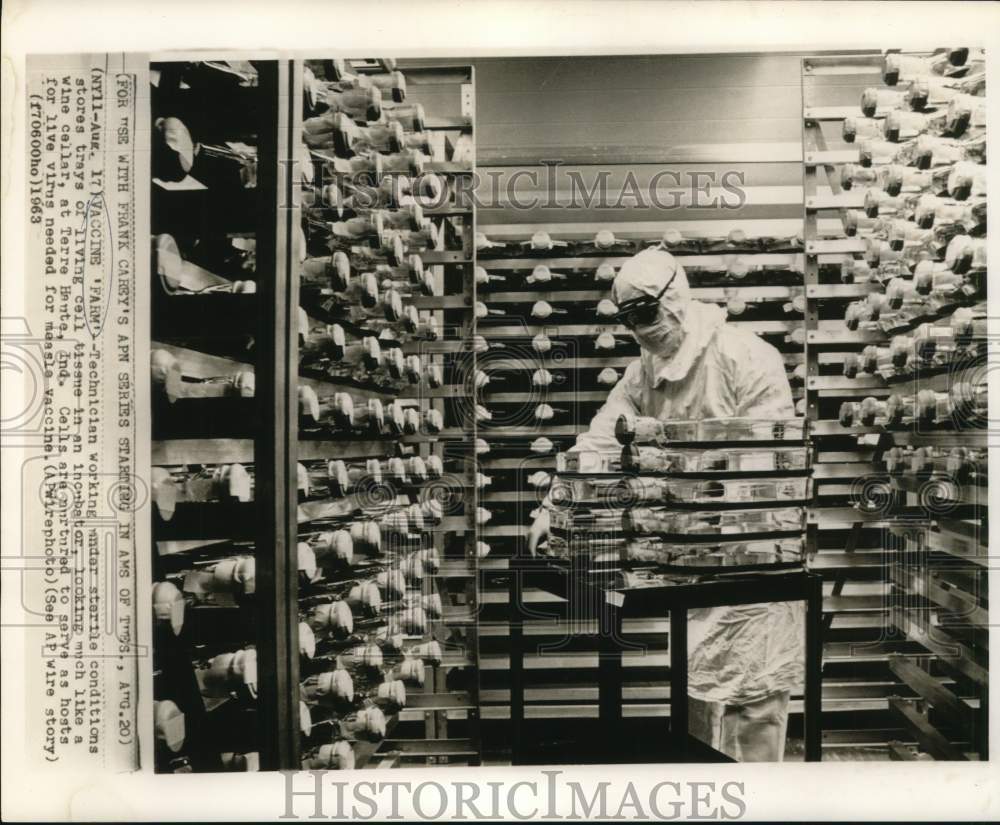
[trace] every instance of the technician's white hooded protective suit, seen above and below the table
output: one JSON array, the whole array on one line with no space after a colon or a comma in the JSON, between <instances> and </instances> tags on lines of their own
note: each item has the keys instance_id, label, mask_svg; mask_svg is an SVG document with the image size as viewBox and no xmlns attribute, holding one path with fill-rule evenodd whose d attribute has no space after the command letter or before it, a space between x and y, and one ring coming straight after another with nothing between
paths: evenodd
<instances>
[{"instance_id":1,"label":"technician's white hooded protective suit, seen above and below the table","mask_svg":"<svg viewBox=\"0 0 1000 825\"><path fill-rule=\"evenodd\" d=\"M714 304L692 300L684 270L670 253L648 249L627 261L615 278L612 298L620 305L641 294L656 296L675 270L660 299L660 320L635 331L640 357L629 364L573 450L619 449L614 425L623 413L660 419L795 415L778 351L727 324ZM801 691L803 682L801 602L706 608L688 615L692 699L725 706L766 701L787 710L787 692ZM692 702L692 730L699 713L720 715L718 708L699 711L696 705ZM781 758L783 732L781 739L772 759Z\"/></svg>"}]
</instances>

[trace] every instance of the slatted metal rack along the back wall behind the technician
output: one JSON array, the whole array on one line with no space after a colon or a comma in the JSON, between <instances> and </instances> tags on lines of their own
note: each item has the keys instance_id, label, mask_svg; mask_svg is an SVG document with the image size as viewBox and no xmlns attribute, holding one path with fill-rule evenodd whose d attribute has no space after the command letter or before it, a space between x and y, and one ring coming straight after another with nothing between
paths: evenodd
<instances>
[{"instance_id":1,"label":"slatted metal rack along the back wall behind the technician","mask_svg":"<svg viewBox=\"0 0 1000 825\"><path fill-rule=\"evenodd\" d=\"M728 222L727 222L728 224ZM711 222L704 222L701 236L684 233L683 243L671 249L684 266L691 283L693 297L727 304L745 301L746 320L732 318L731 323L753 330L775 343L782 351L786 370L792 377L793 392L801 395L797 384L803 362L800 315L791 306L793 299L803 294L801 287L802 247L796 238L730 239L727 226L720 235L711 237ZM481 249L479 264L489 276L500 276L499 283L487 282L480 288L479 299L490 309L502 310L516 317L509 322L502 317L481 319L480 334L491 349L483 359L483 369L496 370L502 381L487 386L493 394L485 397L496 423L481 424L481 435L489 440L490 452L480 457L483 472L492 474L497 483L484 493L483 506L493 511L493 519L482 530L483 538L494 548L494 554L504 558L492 562L484 583L484 643L489 655L483 660L483 703L487 719L512 719L513 707L507 684L509 668L514 667L515 654L510 650L513 636L507 609L509 594L504 567L506 557L513 554L518 541L531 523L531 512L541 501L545 488L533 488L528 479L542 471L555 469L555 452L572 445L575 436L583 432L593 414L607 397L609 387L597 383L602 369L614 369L619 375L638 354L637 345L623 328L601 321L595 308L602 299L610 298L610 280L595 282L599 267L609 265L617 271L622 262L636 252L656 245L661 240L663 224L630 225L608 223L616 242L602 249L593 236L574 231L572 225L539 226L517 224L496 239L503 246ZM531 236L536 231L548 231L559 245L551 250L531 248ZM735 262L745 264L743 274ZM544 265L553 273L565 275L563 280L526 282L534 268ZM727 276L727 268L739 269L742 280ZM531 317L535 301L546 301L570 315L539 320ZM532 339L545 331L552 349L537 352ZM613 350L597 350L593 338L601 333L616 336ZM536 368L566 376L561 384L537 387L532 383ZM501 389L502 387L502 389ZM797 389L796 389L797 387ZM551 420L532 418L537 404L548 404L556 410ZM549 439L549 452L533 452L531 445L538 438ZM558 597L542 590L529 589L529 604L540 611L558 608ZM592 617L593 618L593 617ZM529 701L532 726L542 735L558 740L569 736L565 720L590 720L600 713L603 677L599 672L600 658L596 618L564 617L555 624L529 622L532 640L548 648L544 656L532 662L526 674L525 696ZM623 674L624 712L627 723L639 718L664 717L670 713L666 701L668 688L663 671L657 670L665 660L664 636L668 632L666 614L659 617L628 620L629 633L641 633L647 648L647 662L642 668L628 668ZM632 628L635 628L633 630ZM537 635L541 633L541 635ZM568 634L568 635L567 635ZM561 640L561 641L560 641ZM562 647L555 649L557 642Z\"/></svg>"}]
</instances>

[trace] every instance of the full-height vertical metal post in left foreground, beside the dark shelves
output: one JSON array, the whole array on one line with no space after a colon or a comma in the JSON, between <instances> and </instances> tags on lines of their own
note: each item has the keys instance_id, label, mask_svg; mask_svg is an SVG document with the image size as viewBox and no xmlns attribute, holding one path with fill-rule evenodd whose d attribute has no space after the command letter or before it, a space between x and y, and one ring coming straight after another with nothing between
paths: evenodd
<instances>
[{"instance_id":1,"label":"full-height vertical metal post in left foreground, beside the dark shelves","mask_svg":"<svg viewBox=\"0 0 1000 825\"><path fill-rule=\"evenodd\" d=\"M288 61L258 64L262 123L258 136L257 284L260 334L257 383L260 427L254 441L257 558L257 662L260 766L299 761L298 276L291 208L294 173L289 136L296 95Z\"/></svg>"}]
</instances>

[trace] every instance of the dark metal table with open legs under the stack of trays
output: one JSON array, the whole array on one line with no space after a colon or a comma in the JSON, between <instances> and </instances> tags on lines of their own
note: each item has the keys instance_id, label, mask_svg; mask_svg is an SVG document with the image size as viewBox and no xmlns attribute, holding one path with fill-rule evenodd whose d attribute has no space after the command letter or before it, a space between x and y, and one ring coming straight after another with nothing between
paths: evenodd
<instances>
[{"instance_id":1,"label":"dark metal table with open legs under the stack of trays","mask_svg":"<svg viewBox=\"0 0 1000 825\"><path fill-rule=\"evenodd\" d=\"M509 565L510 725L513 764L523 764L524 590L534 587L572 602L579 618L596 618L599 635L598 717L601 738L615 741L622 720L622 622L626 618L670 617L670 735L664 762L733 761L688 733L687 611L767 602L804 601L805 758L821 759L822 578L804 569L744 573L694 584L656 587L602 587L586 581L579 564L549 558L512 558ZM537 613L535 614L537 615ZM611 761L611 760L608 760Z\"/></svg>"}]
</instances>

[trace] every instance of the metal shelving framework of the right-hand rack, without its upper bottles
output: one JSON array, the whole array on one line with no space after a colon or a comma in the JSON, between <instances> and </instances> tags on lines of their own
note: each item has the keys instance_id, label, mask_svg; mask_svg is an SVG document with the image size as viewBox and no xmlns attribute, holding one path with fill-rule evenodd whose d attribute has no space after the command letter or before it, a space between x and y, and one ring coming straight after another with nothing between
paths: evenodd
<instances>
[{"instance_id":1,"label":"metal shelving framework of the right-hand rack, without its upper bottles","mask_svg":"<svg viewBox=\"0 0 1000 825\"><path fill-rule=\"evenodd\" d=\"M966 349L968 357L943 367L918 366L896 377L837 374L853 372L844 370L844 364L850 364L862 347L890 343L890 336L881 331L850 330L842 320L845 301L878 294L884 287L874 280L833 283L839 274L834 270L843 261L853 270L851 262L868 253L868 245L855 228L847 231L845 213L865 207L865 187L845 190L841 186L842 180L852 182L853 173L842 173L845 164L860 163L859 146L836 134L846 118L861 112L857 105L842 104L851 96L857 100L862 89L886 88L882 68L880 55L824 55L802 61L807 407L819 442L819 460L824 460L825 453L827 460L851 462L843 465L845 477L856 479L850 488L831 480L826 501L832 506L817 508L814 521L821 547L828 530L837 531L829 533L831 538L846 536L846 564L837 571L835 596L865 567L885 577L881 586L887 596L873 599L871 605L872 615L880 617L878 635L859 650L884 663L890 677L898 680L879 703L880 709L888 711L879 718L886 720L882 740L890 757L914 759L929 754L937 759L965 759L986 753L987 673L977 652L981 632L977 628L985 627L986 618L982 563L986 488L979 486L985 484L985 452L981 476L974 474L971 482L960 483L933 462L930 468L909 475L899 469L892 448L962 446L985 451L986 433L975 426L968 431L954 424L916 420L892 424L832 420L834 405L840 402L850 405L871 398L875 410L883 409L880 402L893 393L914 398L921 390L946 393L970 375L974 377L986 357L985 341L977 347L973 340L972 350ZM879 120L867 122L881 124L886 112L874 114ZM847 133L844 128L842 134ZM829 196L817 194L824 178ZM833 219L827 220L831 215ZM961 303L952 304L950 310ZM933 320L929 315L917 322ZM906 334L914 327L915 323L900 326L893 333ZM969 355L973 350L978 354ZM851 412L849 407L849 417ZM894 471L887 455L895 461ZM845 509L844 504L851 508ZM947 626L949 622L959 628L960 640L942 629L942 623Z\"/></svg>"}]
</instances>

